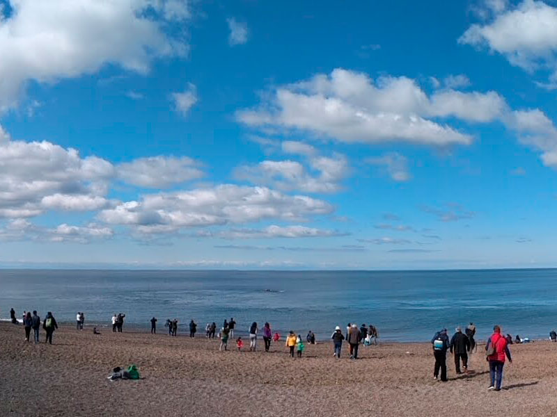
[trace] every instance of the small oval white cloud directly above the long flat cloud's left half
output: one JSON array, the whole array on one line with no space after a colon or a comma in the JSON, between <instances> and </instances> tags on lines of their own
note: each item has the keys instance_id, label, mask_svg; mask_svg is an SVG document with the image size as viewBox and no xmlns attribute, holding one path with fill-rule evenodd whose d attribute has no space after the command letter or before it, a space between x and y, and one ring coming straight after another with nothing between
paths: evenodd
<instances>
[{"instance_id":1,"label":"small oval white cloud directly above the long flat cloud's left half","mask_svg":"<svg viewBox=\"0 0 557 417\"><path fill-rule=\"evenodd\" d=\"M116 170L120 179L134 186L168 188L203 177L200 167L200 163L187 156L152 156L121 163Z\"/></svg>"}]
</instances>

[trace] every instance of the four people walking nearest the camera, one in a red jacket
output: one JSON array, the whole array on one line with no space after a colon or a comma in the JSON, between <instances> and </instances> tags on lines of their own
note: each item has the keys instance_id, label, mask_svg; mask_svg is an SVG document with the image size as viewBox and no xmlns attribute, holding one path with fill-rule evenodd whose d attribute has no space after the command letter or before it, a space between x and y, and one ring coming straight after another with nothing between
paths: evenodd
<instances>
[{"instance_id":1,"label":"four people walking nearest the camera, one in a red jacket","mask_svg":"<svg viewBox=\"0 0 557 417\"><path fill-rule=\"evenodd\" d=\"M440 370L441 382L448 381L446 365L447 350L450 351L451 354L454 354L455 372L457 374L466 373L470 366L471 354L476 347L476 341L474 340L475 334L476 326L471 322L470 325L466 327L465 333L462 333L461 327L457 327L450 341L448 339L447 329L441 329L433 336L431 340L435 358L433 379L439 378ZM512 343L512 336L510 339ZM493 334L487 339L487 344L485 345L485 357L489 362L490 391L501 391L505 359L508 359L508 361L512 363L510 350L508 348L509 344L508 338L501 334L501 327L498 325L494 326ZM461 362L464 372L460 368Z\"/></svg>"}]
</instances>

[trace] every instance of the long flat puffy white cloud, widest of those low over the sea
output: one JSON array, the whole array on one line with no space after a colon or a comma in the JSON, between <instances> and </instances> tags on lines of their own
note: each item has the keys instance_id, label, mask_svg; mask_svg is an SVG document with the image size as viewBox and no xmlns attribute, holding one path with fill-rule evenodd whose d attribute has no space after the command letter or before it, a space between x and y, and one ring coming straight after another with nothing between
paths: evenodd
<instances>
[{"instance_id":1,"label":"long flat puffy white cloud, widest of those low over the sea","mask_svg":"<svg viewBox=\"0 0 557 417\"><path fill-rule=\"evenodd\" d=\"M141 201L103 210L100 220L127 224L142 233L169 233L183 227L247 223L276 219L304 221L308 216L330 214L334 208L304 195L285 195L265 187L224 184L175 193L145 195Z\"/></svg>"}]
</instances>

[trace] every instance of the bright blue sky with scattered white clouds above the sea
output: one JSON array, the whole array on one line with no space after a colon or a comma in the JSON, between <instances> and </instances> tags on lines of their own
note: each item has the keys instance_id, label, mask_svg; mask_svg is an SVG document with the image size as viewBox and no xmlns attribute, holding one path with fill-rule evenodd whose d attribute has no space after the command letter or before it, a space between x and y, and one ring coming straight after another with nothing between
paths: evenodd
<instances>
[{"instance_id":1,"label":"bright blue sky with scattered white clouds above the sea","mask_svg":"<svg viewBox=\"0 0 557 417\"><path fill-rule=\"evenodd\" d=\"M557 1L0 0L0 266L557 266Z\"/></svg>"}]
</instances>

